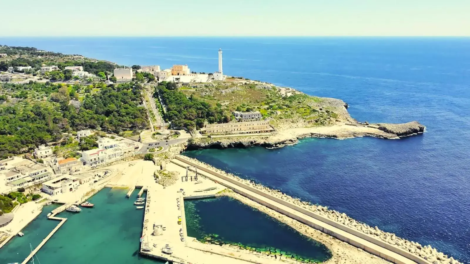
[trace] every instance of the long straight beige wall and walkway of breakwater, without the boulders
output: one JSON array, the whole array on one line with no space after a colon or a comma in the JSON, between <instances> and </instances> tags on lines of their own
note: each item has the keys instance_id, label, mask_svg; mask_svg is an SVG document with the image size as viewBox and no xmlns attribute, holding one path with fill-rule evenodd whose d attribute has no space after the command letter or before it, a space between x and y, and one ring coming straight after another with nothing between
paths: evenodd
<instances>
[{"instance_id":1,"label":"long straight beige wall and walkway of breakwater, without the boulders","mask_svg":"<svg viewBox=\"0 0 470 264\"><path fill-rule=\"evenodd\" d=\"M385 243L384 241L378 240L368 234L354 230L346 225L342 225L312 211L305 210L304 208L301 208L293 203L284 201L257 188L243 184L243 182L239 182L235 179L227 177L226 175L211 170L199 163L195 163L185 157L178 155L175 158L177 161L182 163L196 166L199 169L198 172L207 172L208 174L201 174L208 177L209 179L218 181L220 184L233 189L235 192L242 194L243 196L246 196L255 202L294 218L306 225L310 225L313 228L322 231L323 233L334 236L339 240L345 241L355 247L362 248L365 251L380 256L388 261L397 264L430 264L429 261L422 257L416 256L407 250L403 250L402 248ZM178 162L175 163L178 164Z\"/></svg>"}]
</instances>

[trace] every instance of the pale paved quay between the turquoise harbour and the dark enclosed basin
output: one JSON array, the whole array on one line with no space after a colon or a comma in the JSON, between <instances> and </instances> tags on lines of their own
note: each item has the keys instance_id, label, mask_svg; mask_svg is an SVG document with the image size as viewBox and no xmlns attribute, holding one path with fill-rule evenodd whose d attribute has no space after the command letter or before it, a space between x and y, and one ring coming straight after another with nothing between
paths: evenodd
<instances>
[{"instance_id":1,"label":"pale paved quay between the turquoise harbour and the dark enclosed basin","mask_svg":"<svg viewBox=\"0 0 470 264\"><path fill-rule=\"evenodd\" d=\"M188 172L188 181L186 181L186 166L169 163L166 165L166 170L179 173L176 184L164 188L157 184L150 175L141 178L139 181L141 186L147 188L141 238L142 255L172 261L173 263L193 264L272 264L280 261L281 258L275 259L274 257L251 253L245 249L204 244L193 237L188 237L183 200L214 197L215 194L223 191L226 187L201 176L196 180L194 179L196 173L192 171ZM193 176L193 180L191 180L191 176ZM180 189L183 189L184 192L181 192ZM137 197L137 195L134 196L133 194L131 199L134 197ZM180 206L178 206L178 201ZM156 226L155 230L154 226ZM181 238L184 238L184 241ZM162 252L162 248L167 244L172 249L171 255Z\"/></svg>"}]
</instances>

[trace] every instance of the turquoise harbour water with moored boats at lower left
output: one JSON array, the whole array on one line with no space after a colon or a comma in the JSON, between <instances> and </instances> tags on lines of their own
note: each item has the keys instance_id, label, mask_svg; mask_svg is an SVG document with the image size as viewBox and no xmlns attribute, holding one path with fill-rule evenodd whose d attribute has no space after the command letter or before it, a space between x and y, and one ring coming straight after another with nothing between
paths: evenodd
<instances>
[{"instance_id":1,"label":"turquoise harbour water with moored boats at lower left","mask_svg":"<svg viewBox=\"0 0 470 264\"><path fill-rule=\"evenodd\" d=\"M125 198L126 193L125 189L104 188L88 199L95 204L94 208L82 208L80 213L64 211L58 214L58 217L68 220L39 250L39 261L46 264L163 263L139 255L144 211L136 210L133 205L135 199ZM29 225L25 231L37 232L35 238L39 244L58 222L47 220L42 215L33 223L37 225ZM30 232L24 233L23 238L15 239L7 244L7 248L0 249L0 263L21 262L29 254ZM26 250L16 255L14 249L18 247Z\"/></svg>"}]
</instances>

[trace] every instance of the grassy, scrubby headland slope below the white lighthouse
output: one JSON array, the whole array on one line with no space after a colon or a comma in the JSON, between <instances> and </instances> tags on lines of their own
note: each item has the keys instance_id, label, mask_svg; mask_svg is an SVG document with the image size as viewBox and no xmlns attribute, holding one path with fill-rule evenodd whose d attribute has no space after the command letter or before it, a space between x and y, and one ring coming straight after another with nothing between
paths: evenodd
<instances>
[{"instance_id":1,"label":"grassy, scrubby headland slope below the white lighthouse","mask_svg":"<svg viewBox=\"0 0 470 264\"><path fill-rule=\"evenodd\" d=\"M200 101L218 109L222 116L235 110L259 111L276 128L326 126L350 119L344 102L321 98L275 85L236 81L182 87L191 101ZM230 118L227 118L230 120ZM218 120L219 123L224 120ZM216 121L217 122L217 121Z\"/></svg>"}]
</instances>

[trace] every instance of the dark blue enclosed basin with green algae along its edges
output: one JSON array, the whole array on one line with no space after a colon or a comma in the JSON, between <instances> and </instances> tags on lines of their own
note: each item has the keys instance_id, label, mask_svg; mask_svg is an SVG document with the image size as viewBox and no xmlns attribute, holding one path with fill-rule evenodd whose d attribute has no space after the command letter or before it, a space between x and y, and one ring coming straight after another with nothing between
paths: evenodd
<instances>
[{"instance_id":1,"label":"dark blue enclosed basin with green algae along its edges","mask_svg":"<svg viewBox=\"0 0 470 264\"><path fill-rule=\"evenodd\" d=\"M331 257L323 244L232 198L185 200L184 206L188 236L199 241L310 263Z\"/></svg>"}]
</instances>

